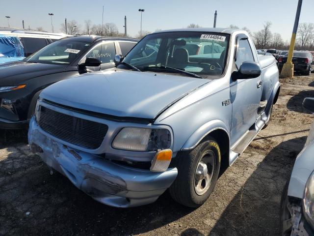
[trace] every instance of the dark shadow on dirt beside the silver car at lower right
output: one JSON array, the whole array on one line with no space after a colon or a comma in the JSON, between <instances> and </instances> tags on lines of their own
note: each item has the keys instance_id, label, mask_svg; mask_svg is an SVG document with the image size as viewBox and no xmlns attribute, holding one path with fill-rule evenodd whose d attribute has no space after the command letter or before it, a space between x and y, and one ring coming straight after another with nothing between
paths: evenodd
<instances>
[{"instance_id":1,"label":"dark shadow on dirt beside the silver car at lower right","mask_svg":"<svg viewBox=\"0 0 314 236\"><path fill-rule=\"evenodd\" d=\"M282 142L273 148L235 195L209 235L279 235L282 191L305 141L306 136Z\"/></svg>"}]
</instances>

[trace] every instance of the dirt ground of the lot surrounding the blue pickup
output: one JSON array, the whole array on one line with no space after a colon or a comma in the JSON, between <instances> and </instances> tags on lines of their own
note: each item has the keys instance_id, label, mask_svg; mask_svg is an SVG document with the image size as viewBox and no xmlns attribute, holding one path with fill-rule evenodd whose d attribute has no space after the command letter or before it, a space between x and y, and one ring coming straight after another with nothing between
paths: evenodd
<instances>
[{"instance_id":1,"label":"dirt ground of the lot surrounding the blue pickup","mask_svg":"<svg viewBox=\"0 0 314 236\"><path fill-rule=\"evenodd\" d=\"M277 236L279 203L313 116L314 75L281 80L270 125L218 179L209 200L183 207L164 193L129 209L102 205L29 151L25 131L0 130L0 235Z\"/></svg>"}]
</instances>

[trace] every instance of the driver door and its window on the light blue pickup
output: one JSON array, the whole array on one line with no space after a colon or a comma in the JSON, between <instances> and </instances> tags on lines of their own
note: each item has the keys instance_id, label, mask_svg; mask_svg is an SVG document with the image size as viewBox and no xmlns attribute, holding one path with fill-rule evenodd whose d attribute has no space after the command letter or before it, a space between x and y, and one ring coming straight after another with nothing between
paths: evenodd
<instances>
[{"instance_id":1,"label":"driver door and its window on the light blue pickup","mask_svg":"<svg viewBox=\"0 0 314 236\"><path fill-rule=\"evenodd\" d=\"M244 61L257 61L252 53L254 46L245 34L238 36L236 42L234 66L237 69ZM230 91L233 108L230 136L234 144L256 122L262 98L262 75L253 79L231 79Z\"/></svg>"}]
</instances>

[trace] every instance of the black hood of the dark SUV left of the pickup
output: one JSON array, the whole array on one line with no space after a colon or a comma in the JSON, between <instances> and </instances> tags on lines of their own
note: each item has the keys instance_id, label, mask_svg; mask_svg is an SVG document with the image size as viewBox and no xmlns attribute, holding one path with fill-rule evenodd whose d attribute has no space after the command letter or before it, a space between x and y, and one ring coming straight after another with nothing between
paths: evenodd
<instances>
[{"instance_id":1,"label":"black hood of the dark SUV left of the pickup","mask_svg":"<svg viewBox=\"0 0 314 236\"><path fill-rule=\"evenodd\" d=\"M0 64L0 86L19 85L31 78L62 72L67 66L12 61Z\"/></svg>"}]
</instances>

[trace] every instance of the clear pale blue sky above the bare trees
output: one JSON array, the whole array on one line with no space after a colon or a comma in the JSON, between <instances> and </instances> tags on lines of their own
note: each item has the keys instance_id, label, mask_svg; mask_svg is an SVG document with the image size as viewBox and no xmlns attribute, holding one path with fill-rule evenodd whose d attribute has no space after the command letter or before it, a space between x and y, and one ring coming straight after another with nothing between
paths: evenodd
<instances>
[{"instance_id":1,"label":"clear pale blue sky above the bare trees","mask_svg":"<svg viewBox=\"0 0 314 236\"><path fill-rule=\"evenodd\" d=\"M76 20L80 29L84 20L93 24L114 23L124 32L124 16L127 16L128 34L135 36L140 30L154 32L156 29L178 29L194 23L212 27L214 12L217 10L216 27L226 28L233 24L247 27L252 32L262 29L265 21L272 22L271 31L278 32L283 39L290 40L297 0L0 0L0 26L7 27L5 16L10 16L10 27L32 29L43 27L45 31L60 32L64 19ZM303 0L300 23L314 23L314 0Z\"/></svg>"}]
</instances>

